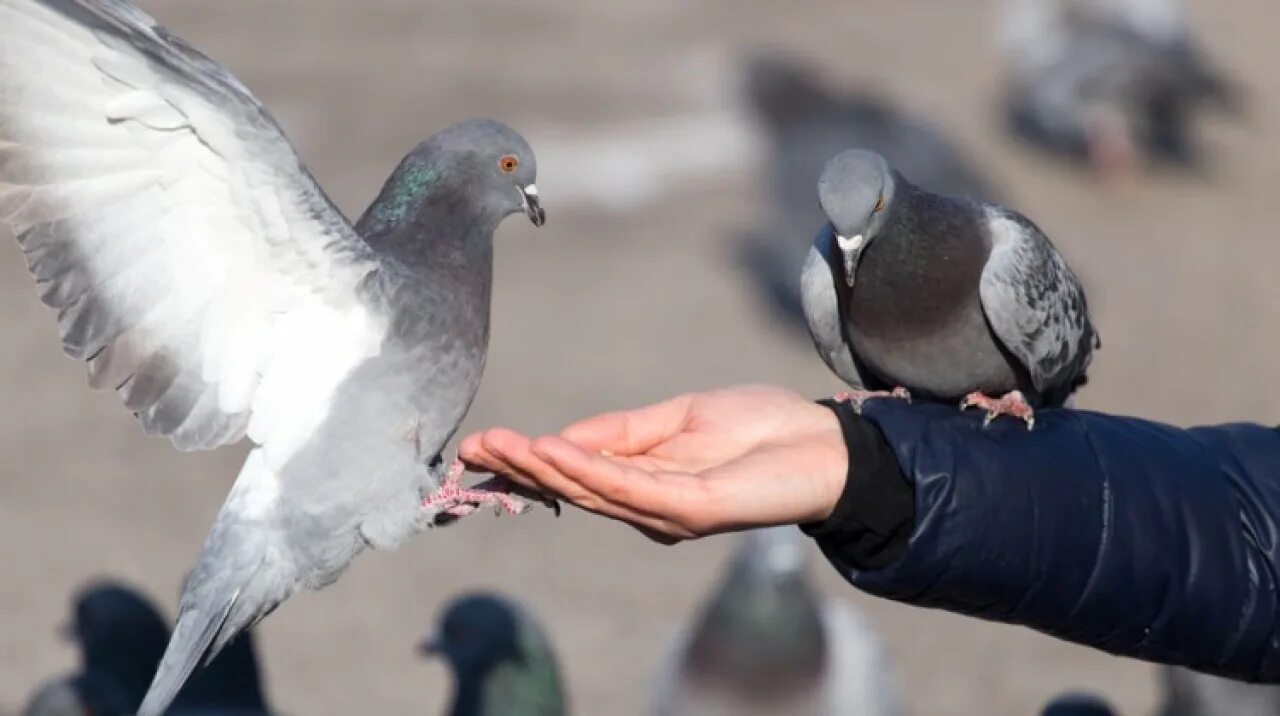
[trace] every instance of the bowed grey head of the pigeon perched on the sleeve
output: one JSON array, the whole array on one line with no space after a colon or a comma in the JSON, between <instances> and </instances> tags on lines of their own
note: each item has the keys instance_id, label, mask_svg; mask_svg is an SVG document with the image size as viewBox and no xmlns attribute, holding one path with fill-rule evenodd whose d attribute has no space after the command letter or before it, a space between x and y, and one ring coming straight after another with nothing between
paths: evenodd
<instances>
[{"instance_id":1,"label":"bowed grey head of the pigeon perched on the sleeve","mask_svg":"<svg viewBox=\"0 0 1280 716\"><path fill-rule=\"evenodd\" d=\"M849 286L854 284L863 251L884 225L893 190L893 170L874 151L854 149L841 152L822 170L818 202L836 234Z\"/></svg>"}]
</instances>

